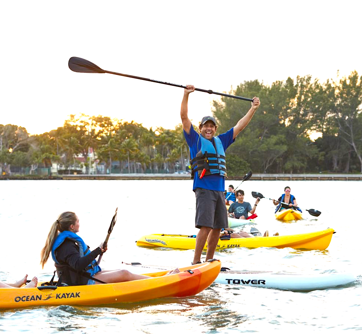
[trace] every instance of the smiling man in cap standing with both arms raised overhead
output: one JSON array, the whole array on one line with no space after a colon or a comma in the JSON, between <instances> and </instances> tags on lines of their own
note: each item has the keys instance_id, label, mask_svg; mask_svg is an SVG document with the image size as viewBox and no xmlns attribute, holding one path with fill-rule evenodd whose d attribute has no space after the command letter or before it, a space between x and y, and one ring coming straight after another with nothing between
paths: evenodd
<instances>
[{"instance_id":1,"label":"smiling man in cap standing with both arms raised overhead","mask_svg":"<svg viewBox=\"0 0 362 334\"><path fill-rule=\"evenodd\" d=\"M237 124L214 137L218 128L215 118L205 116L199 124L198 134L188 117L189 94L195 90L187 85L181 103L181 121L186 142L190 148L191 170L194 178L193 191L196 196L195 226L200 229L196 237L194 260L201 263L201 254L207 239L206 260L214 257L220 231L228 227L225 206L224 186L226 176L226 149L235 141L235 137L248 125L254 112L259 108L260 100L254 97L247 114Z\"/></svg>"}]
</instances>

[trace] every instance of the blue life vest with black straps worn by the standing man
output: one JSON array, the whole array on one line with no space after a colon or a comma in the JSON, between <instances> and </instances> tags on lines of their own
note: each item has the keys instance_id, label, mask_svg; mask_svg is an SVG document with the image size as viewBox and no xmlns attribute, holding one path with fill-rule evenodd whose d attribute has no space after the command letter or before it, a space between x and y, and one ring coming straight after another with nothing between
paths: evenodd
<instances>
[{"instance_id":1,"label":"blue life vest with black straps worn by the standing man","mask_svg":"<svg viewBox=\"0 0 362 334\"><path fill-rule=\"evenodd\" d=\"M201 149L195 158L190 160L191 179L194 178L195 171L200 176L204 168L206 170L205 175L220 174L227 176L225 151L219 137L213 137L212 142L202 135L199 135L199 139L201 140Z\"/></svg>"}]
</instances>

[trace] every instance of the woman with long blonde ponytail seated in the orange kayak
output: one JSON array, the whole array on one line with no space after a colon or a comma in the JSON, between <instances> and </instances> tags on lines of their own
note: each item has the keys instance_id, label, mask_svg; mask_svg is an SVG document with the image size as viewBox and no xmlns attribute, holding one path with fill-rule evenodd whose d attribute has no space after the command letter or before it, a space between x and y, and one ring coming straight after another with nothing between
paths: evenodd
<instances>
[{"instance_id":1,"label":"woman with long blonde ponytail seated in the orange kayak","mask_svg":"<svg viewBox=\"0 0 362 334\"><path fill-rule=\"evenodd\" d=\"M79 219L74 212L63 212L52 224L45 246L41 251L41 265L47 262L51 253L61 283L67 285L90 285L142 280L150 276L132 274L128 270L101 270L96 257L107 250L103 242L94 249L84 243L76 233ZM168 274L180 272L178 268Z\"/></svg>"}]
</instances>

